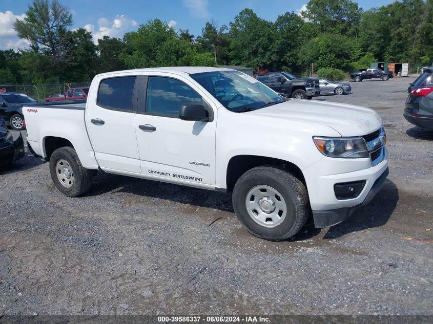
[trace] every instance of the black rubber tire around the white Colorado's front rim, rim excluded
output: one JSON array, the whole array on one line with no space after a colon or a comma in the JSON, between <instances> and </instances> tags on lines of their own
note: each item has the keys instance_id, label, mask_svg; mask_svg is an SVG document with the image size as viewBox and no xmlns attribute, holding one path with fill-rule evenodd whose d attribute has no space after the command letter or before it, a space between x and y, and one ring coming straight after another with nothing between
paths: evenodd
<instances>
[{"instance_id":1,"label":"black rubber tire around the white Colorado's front rim, rim excluded","mask_svg":"<svg viewBox=\"0 0 433 324\"><path fill-rule=\"evenodd\" d=\"M250 216L245 200L256 186L269 186L281 193L287 209L284 220L275 227L265 227ZM308 192L291 172L274 166L259 166L246 171L233 189L233 208L239 221L251 234L270 241L287 240L304 226L311 215Z\"/></svg>"}]
</instances>

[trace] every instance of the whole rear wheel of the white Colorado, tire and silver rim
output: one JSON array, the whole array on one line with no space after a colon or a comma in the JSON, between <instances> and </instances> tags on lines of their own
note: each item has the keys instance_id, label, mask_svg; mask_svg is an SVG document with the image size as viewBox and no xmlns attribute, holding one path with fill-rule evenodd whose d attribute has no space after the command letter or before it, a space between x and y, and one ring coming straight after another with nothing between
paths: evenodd
<instances>
[{"instance_id":1,"label":"whole rear wheel of the white Colorado, tire and silver rim","mask_svg":"<svg viewBox=\"0 0 433 324\"><path fill-rule=\"evenodd\" d=\"M54 185L67 197L83 195L92 186L92 177L86 174L72 147L60 147L53 152L50 174Z\"/></svg>"}]
</instances>

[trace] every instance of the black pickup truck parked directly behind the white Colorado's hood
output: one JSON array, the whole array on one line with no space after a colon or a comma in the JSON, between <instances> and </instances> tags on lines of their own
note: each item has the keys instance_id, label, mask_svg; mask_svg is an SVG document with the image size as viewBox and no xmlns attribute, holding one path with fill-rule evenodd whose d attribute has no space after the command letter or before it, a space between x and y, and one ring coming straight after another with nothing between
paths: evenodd
<instances>
[{"instance_id":1,"label":"black pickup truck parked directly behind the white Colorado's hood","mask_svg":"<svg viewBox=\"0 0 433 324\"><path fill-rule=\"evenodd\" d=\"M319 79L297 78L287 72L267 72L256 75L256 79L272 90L295 99L311 99L320 94Z\"/></svg>"}]
</instances>

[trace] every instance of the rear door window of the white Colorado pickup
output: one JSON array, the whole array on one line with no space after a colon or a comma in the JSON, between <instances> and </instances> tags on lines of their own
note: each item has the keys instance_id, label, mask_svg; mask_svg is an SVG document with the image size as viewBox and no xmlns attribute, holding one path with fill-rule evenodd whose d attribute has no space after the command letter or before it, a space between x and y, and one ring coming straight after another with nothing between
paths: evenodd
<instances>
[{"instance_id":1,"label":"rear door window of the white Colorado pickup","mask_svg":"<svg viewBox=\"0 0 433 324\"><path fill-rule=\"evenodd\" d=\"M99 84L97 104L107 109L132 111L135 76L104 79Z\"/></svg>"}]
</instances>

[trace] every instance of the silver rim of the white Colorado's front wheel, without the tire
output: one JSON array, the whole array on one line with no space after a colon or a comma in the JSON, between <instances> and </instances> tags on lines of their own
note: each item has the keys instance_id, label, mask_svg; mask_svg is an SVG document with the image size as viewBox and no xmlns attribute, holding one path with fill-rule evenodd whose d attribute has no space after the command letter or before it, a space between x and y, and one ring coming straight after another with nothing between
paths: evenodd
<instances>
[{"instance_id":1,"label":"silver rim of the white Colorado's front wheel, without the tire","mask_svg":"<svg viewBox=\"0 0 433 324\"><path fill-rule=\"evenodd\" d=\"M255 186L246 194L246 211L259 225L276 227L287 214L287 206L278 190L270 186Z\"/></svg>"}]
</instances>

